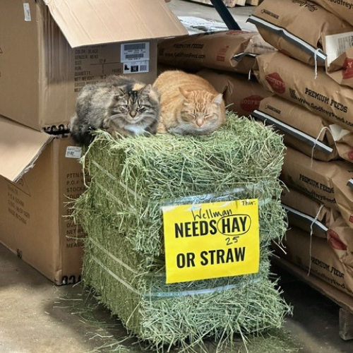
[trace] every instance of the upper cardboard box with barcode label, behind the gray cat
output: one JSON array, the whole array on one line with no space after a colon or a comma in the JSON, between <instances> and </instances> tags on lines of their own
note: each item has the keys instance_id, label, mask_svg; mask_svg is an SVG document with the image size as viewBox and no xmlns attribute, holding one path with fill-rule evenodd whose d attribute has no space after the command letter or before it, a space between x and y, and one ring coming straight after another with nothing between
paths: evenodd
<instances>
[{"instance_id":1,"label":"upper cardboard box with barcode label, behind the gray cat","mask_svg":"<svg viewBox=\"0 0 353 353\"><path fill-rule=\"evenodd\" d=\"M161 37L187 31L164 0L1 0L0 114L64 130L85 83L152 82Z\"/></svg>"}]
</instances>

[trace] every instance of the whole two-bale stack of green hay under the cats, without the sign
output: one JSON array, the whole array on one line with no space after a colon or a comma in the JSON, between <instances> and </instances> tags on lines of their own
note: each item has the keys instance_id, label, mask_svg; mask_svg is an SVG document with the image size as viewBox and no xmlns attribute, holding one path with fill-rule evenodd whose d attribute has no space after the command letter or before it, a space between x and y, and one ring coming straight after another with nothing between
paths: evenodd
<instances>
[{"instance_id":1,"label":"whole two-bale stack of green hay under the cats, without the sign","mask_svg":"<svg viewBox=\"0 0 353 353\"><path fill-rule=\"evenodd\" d=\"M280 327L288 306L269 280L268 249L286 230L284 150L282 136L232 113L210 136L97 131L82 160L92 179L73 213L88 234L85 285L154 347ZM166 285L161 206L244 198L259 200L259 273Z\"/></svg>"}]
</instances>

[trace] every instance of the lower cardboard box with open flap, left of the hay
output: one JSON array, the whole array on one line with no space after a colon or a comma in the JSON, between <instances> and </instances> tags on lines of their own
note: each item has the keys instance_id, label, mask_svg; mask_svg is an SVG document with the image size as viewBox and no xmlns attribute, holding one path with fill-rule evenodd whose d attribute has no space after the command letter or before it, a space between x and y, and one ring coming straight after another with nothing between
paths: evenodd
<instances>
[{"instance_id":1,"label":"lower cardboard box with open flap, left of the hay","mask_svg":"<svg viewBox=\"0 0 353 353\"><path fill-rule=\"evenodd\" d=\"M67 217L84 190L79 156L69 137L0 117L0 242L56 285L80 280L84 233Z\"/></svg>"}]
</instances>

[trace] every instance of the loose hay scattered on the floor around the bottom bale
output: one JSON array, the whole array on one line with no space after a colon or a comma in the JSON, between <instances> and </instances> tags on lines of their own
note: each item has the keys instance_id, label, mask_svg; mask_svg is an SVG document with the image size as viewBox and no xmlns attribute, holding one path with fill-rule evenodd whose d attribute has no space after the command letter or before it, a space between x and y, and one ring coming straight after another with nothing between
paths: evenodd
<instances>
[{"instance_id":1,"label":"loose hay scattered on the floor around the bottom bale","mask_svg":"<svg viewBox=\"0 0 353 353\"><path fill-rule=\"evenodd\" d=\"M121 323L114 320L82 284L74 287L75 290L71 290L71 287L68 291L60 291L53 309L71 315L73 323L85 325L87 337L93 342L90 345L92 350L87 353L155 353L155 349L148 349L148 346L138 342L135 337L127 336ZM232 344L232 352L237 353L299 352L299 345L283 328L268 330L263 335L246 335L246 347L239 337L234 337ZM217 349L217 342L213 340L205 340L205 347L208 353L231 352L226 347L220 351L220 347ZM180 353L179 347L171 349L170 352ZM202 351L198 349L197 352Z\"/></svg>"}]
</instances>

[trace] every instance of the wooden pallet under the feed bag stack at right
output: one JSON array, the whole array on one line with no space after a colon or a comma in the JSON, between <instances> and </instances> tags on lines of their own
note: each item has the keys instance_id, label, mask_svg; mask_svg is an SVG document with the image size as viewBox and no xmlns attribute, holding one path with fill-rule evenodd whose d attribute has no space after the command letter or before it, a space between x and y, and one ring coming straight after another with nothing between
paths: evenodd
<instances>
[{"instance_id":1,"label":"wooden pallet under the feed bag stack at right","mask_svg":"<svg viewBox=\"0 0 353 353\"><path fill-rule=\"evenodd\" d=\"M313 289L316 289L318 292L325 295L325 297L328 297L340 306L339 335L342 340L353 340L353 298L349 296L349 294L341 292L332 285L329 285L327 282L321 280L319 277L315 277L313 275L308 276L306 270L289 263L289 261L283 258L274 256L272 261L280 268L287 270L287 272L299 278L299 280L313 287Z\"/></svg>"}]
</instances>

